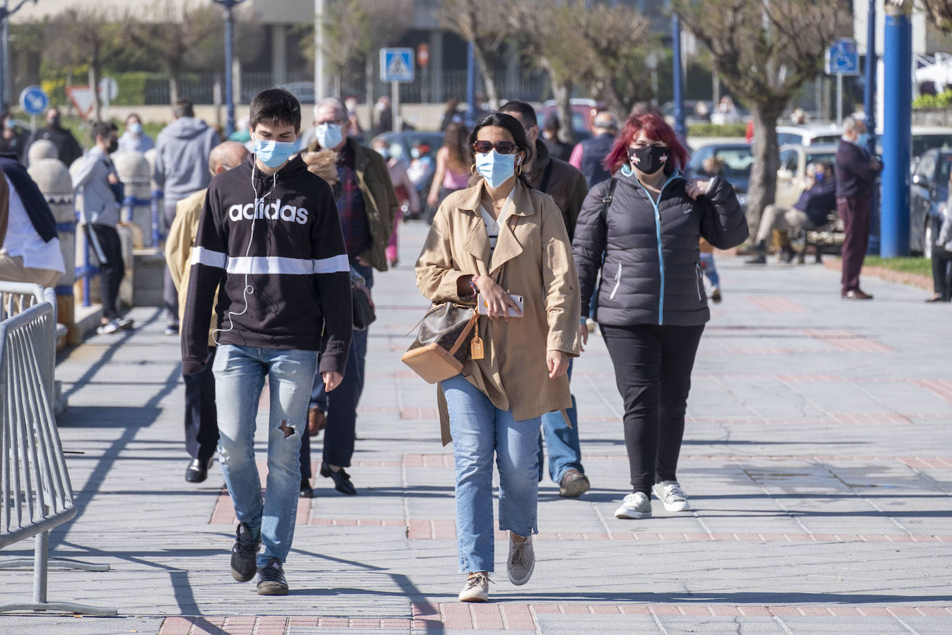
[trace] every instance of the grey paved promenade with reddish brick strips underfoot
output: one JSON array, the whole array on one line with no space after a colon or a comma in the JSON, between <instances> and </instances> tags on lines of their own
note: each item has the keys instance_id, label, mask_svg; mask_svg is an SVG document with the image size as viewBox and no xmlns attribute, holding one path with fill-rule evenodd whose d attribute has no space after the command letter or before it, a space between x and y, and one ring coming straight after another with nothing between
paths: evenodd
<instances>
[{"instance_id":1,"label":"grey paved promenade with reddish brick strips underfoot","mask_svg":"<svg viewBox=\"0 0 952 635\"><path fill-rule=\"evenodd\" d=\"M593 337L573 378L593 489L560 499L546 474L532 580L507 582L500 541L493 602L457 602L451 448L434 387L400 363L426 306L411 269L425 232L404 226L400 267L376 279L349 470L359 496L317 478L288 597L231 580L221 469L183 478L179 347L141 308L136 330L93 337L57 367L80 511L50 544L111 568L52 569L49 597L119 617L8 614L0 633L952 632L952 307L873 279L875 301L842 301L837 272L731 258L688 404L679 476L694 511L656 502L652 519L614 518L628 490L622 406ZM3 558L30 554L17 547ZM4 601L30 599L30 571L0 580Z\"/></svg>"}]
</instances>

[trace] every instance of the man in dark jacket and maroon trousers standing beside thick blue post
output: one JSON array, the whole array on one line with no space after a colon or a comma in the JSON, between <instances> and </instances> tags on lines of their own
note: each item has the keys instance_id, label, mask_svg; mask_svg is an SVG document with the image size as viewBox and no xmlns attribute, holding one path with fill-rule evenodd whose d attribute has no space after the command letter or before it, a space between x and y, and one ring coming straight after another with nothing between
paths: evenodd
<instances>
[{"instance_id":1,"label":"man in dark jacket and maroon trousers standing beside thick blue post","mask_svg":"<svg viewBox=\"0 0 952 635\"><path fill-rule=\"evenodd\" d=\"M860 289L860 269L869 246L871 201L883 162L863 148L865 137L863 121L847 117L836 150L836 210L843 220L841 295L847 300L873 299Z\"/></svg>"}]
</instances>

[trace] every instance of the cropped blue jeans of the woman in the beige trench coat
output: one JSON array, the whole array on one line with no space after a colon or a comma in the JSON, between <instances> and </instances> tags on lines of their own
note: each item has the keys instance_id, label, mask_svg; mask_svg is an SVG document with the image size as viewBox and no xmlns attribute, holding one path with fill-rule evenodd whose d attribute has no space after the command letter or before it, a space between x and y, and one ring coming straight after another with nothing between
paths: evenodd
<instances>
[{"instance_id":1,"label":"cropped blue jeans of the woman in the beige trench coat","mask_svg":"<svg viewBox=\"0 0 952 635\"><path fill-rule=\"evenodd\" d=\"M537 533L541 418L515 421L477 387L457 375L440 387L449 408L456 464L456 540L460 570L493 571L492 458L499 468L499 528Z\"/></svg>"}]
</instances>

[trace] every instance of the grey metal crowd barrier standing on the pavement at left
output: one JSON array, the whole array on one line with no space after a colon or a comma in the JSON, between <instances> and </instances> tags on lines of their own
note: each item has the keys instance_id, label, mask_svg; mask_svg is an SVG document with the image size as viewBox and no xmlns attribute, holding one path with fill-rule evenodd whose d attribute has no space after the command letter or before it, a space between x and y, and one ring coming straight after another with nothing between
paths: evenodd
<instances>
[{"instance_id":1,"label":"grey metal crowd barrier standing on the pavement at left","mask_svg":"<svg viewBox=\"0 0 952 635\"><path fill-rule=\"evenodd\" d=\"M3 604L0 611L115 615L115 608L47 602L50 529L77 512L52 410L56 298L49 288L0 283L0 306L0 548L35 539L33 602ZM17 560L2 567L29 565Z\"/></svg>"}]
</instances>

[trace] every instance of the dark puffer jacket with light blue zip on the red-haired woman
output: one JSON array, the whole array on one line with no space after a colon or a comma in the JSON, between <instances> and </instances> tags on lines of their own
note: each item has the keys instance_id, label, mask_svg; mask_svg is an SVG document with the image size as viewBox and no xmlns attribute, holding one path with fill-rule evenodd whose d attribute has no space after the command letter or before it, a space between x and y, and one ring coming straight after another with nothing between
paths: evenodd
<instances>
[{"instance_id":1,"label":"dark puffer jacket with light blue zip on the red-haired woman","mask_svg":"<svg viewBox=\"0 0 952 635\"><path fill-rule=\"evenodd\" d=\"M596 319L600 324L702 325L710 319L698 244L716 248L746 239L747 221L734 187L715 177L697 201L675 174L665 183L657 208L634 176L616 174L605 216L602 200L611 180L588 192L579 214L572 252L579 270L582 314L602 268ZM603 264L603 254L605 261Z\"/></svg>"}]
</instances>

